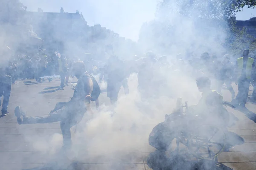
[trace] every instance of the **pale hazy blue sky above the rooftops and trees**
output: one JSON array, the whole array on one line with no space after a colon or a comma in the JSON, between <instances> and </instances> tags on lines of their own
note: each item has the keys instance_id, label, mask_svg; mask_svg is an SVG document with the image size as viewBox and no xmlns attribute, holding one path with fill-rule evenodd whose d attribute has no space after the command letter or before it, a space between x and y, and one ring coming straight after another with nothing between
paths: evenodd
<instances>
[{"instance_id":1,"label":"pale hazy blue sky above the rooftops and trees","mask_svg":"<svg viewBox=\"0 0 256 170\"><path fill-rule=\"evenodd\" d=\"M45 12L82 12L88 25L101 24L122 37L138 39L141 25L154 19L158 0L20 0L28 11L42 8ZM244 8L237 20L256 17L256 9Z\"/></svg>"}]
</instances>

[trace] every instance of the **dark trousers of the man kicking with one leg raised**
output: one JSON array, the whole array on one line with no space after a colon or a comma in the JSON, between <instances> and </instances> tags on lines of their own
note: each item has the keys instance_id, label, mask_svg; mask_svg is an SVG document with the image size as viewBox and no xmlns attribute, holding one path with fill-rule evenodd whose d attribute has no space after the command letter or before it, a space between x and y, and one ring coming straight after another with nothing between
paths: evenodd
<instances>
[{"instance_id":1,"label":"dark trousers of the man kicking with one leg raised","mask_svg":"<svg viewBox=\"0 0 256 170\"><path fill-rule=\"evenodd\" d=\"M26 116L26 118L23 118L23 124L52 123L60 121L63 144L66 147L70 147L70 128L81 121L85 112L86 108L77 102L59 102L56 104L54 110L48 115L35 117Z\"/></svg>"}]
</instances>

